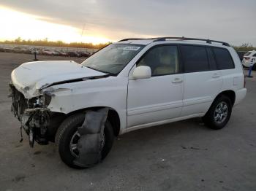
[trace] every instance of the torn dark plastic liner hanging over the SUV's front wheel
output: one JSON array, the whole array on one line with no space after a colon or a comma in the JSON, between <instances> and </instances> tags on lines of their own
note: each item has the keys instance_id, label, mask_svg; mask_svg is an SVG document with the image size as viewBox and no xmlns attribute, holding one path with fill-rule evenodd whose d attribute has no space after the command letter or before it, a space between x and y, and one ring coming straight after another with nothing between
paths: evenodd
<instances>
[{"instance_id":1,"label":"torn dark plastic liner hanging over the SUV's front wheel","mask_svg":"<svg viewBox=\"0 0 256 191\"><path fill-rule=\"evenodd\" d=\"M104 128L108 117L108 109L99 109L96 112L86 112L83 125L78 128L80 139L78 141L79 155L75 165L83 168L90 167L101 161L101 151L104 147Z\"/></svg>"}]
</instances>

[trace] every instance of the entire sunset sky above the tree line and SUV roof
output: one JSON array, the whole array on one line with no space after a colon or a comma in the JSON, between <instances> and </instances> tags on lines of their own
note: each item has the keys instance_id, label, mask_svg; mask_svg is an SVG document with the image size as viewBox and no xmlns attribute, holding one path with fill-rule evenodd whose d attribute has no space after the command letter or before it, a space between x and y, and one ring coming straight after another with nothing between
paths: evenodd
<instances>
[{"instance_id":1,"label":"entire sunset sky above the tree line and SUV roof","mask_svg":"<svg viewBox=\"0 0 256 191\"><path fill-rule=\"evenodd\" d=\"M0 39L186 36L256 46L256 0L0 0Z\"/></svg>"}]
</instances>

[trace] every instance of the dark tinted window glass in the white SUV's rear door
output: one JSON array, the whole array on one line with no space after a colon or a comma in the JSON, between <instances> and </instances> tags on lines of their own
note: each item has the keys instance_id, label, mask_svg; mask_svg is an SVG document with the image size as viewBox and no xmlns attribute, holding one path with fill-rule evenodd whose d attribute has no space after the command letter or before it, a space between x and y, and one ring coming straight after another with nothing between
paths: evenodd
<instances>
[{"instance_id":1,"label":"dark tinted window glass in the white SUV's rear door","mask_svg":"<svg viewBox=\"0 0 256 191\"><path fill-rule=\"evenodd\" d=\"M185 72L207 71L208 58L205 47L181 46Z\"/></svg>"}]
</instances>

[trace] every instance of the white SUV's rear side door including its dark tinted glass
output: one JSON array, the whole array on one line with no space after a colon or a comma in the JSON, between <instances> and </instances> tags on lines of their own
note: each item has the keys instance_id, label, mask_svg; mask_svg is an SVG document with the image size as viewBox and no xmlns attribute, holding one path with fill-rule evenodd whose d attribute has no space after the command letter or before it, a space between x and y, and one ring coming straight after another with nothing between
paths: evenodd
<instances>
[{"instance_id":1,"label":"white SUV's rear side door including its dark tinted glass","mask_svg":"<svg viewBox=\"0 0 256 191\"><path fill-rule=\"evenodd\" d=\"M211 47L181 45L184 64L184 107L181 116L203 114L222 89L222 72L217 69Z\"/></svg>"}]
</instances>

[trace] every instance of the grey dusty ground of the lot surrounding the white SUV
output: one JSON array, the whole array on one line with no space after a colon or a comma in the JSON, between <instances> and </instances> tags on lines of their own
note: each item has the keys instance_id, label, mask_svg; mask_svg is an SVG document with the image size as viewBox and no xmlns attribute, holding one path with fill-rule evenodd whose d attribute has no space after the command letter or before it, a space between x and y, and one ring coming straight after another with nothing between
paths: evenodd
<instances>
[{"instance_id":1,"label":"grey dusty ground of the lot surrounding the white SUV","mask_svg":"<svg viewBox=\"0 0 256 191\"><path fill-rule=\"evenodd\" d=\"M256 190L256 78L246 79L246 98L226 128L210 130L192 119L137 130L118 137L103 163L74 170L54 144L32 149L26 136L19 142L8 82L12 69L32 60L0 52L0 190Z\"/></svg>"}]
</instances>

